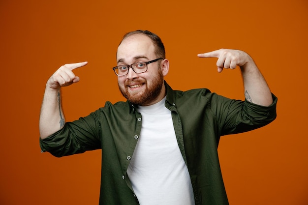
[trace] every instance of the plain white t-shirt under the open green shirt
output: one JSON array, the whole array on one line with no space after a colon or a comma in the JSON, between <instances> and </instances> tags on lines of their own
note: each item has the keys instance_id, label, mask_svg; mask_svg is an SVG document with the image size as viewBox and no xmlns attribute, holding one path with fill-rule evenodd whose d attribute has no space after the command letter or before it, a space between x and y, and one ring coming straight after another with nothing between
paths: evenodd
<instances>
[{"instance_id":1,"label":"plain white t-shirt under the open green shirt","mask_svg":"<svg viewBox=\"0 0 308 205\"><path fill-rule=\"evenodd\" d=\"M194 205L189 173L165 98L139 106L142 128L127 174L140 205Z\"/></svg>"}]
</instances>

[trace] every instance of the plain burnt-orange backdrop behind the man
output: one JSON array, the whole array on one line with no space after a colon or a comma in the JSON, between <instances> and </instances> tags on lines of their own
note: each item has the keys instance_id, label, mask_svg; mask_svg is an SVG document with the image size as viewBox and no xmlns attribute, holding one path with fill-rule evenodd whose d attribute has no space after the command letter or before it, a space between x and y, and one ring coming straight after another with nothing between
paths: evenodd
<instances>
[{"instance_id":1,"label":"plain burnt-orange backdrop behind the man","mask_svg":"<svg viewBox=\"0 0 308 205\"><path fill-rule=\"evenodd\" d=\"M307 205L307 0L1 0L0 204L98 204L101 151L41 154L41 100L56 69L84 60L81 81L63 89L66 120L124 100L111 67L123 34L135 29L162 38L174 89L244 99L239 70L219 74L216 59L196 55L231 48L255 59L278 97L277 119L221 138L230 204Z\"/></svg>"}]
</instances>

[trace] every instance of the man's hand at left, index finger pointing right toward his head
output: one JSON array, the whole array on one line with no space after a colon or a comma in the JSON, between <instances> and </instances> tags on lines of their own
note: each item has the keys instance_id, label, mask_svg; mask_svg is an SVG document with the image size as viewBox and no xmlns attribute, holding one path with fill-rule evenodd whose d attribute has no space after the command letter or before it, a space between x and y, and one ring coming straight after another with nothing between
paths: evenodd
<instances>
[{"instance_id":1,"label":"man's hand at left, index finger pointing right toward his head","mask_svg":"<svg viewBox=\"0 0 308 205\"><path fill-rule=\"evenodd\" d=\"M88 62L69 63L62 65L47 81L46 87L59 89L79 82L79 77L75 76L73 70L87 65Z\"/></svg>"}]
</instances>

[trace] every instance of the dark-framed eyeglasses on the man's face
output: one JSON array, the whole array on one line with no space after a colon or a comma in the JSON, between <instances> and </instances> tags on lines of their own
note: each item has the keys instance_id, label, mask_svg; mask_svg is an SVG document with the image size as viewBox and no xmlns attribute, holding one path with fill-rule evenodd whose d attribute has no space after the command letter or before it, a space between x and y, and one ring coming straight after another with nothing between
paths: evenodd
<instances>
[{"instance_id":1,"label":"dark-framed eyeglasses on the man's face","mask_svg":"<svg viewBox=\"0 0 308 205\"><path fill-rule=\"evenodd\" d=\"M129 68L133 69L135 73L144 73L148 70L148 64L162 60L162 58L150 60L148 62L136 62L130 65L118 65L112 69L115 71L117 76L124 76L128 74Z\"/></svg>"}]
</instances>

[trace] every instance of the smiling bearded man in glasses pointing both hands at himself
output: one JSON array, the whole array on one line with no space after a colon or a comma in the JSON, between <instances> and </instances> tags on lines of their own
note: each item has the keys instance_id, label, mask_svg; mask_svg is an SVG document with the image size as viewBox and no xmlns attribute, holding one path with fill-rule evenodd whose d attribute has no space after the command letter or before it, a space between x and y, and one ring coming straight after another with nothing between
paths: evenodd
<instances>
[{"instance_id":1,"label":"smiling bearded man in glasses pointing both hands at himself","mask_svg":"<svg viewBox=\"0 0 308 205\"><path fill-rule=\"evenodd\" d=\"M217 146L222 135L246 132L276 118L277 98L243 51L199 54L218 58L217 70L240 66L245 101L208 89L175 91L164 81L169 61L150 31L124 35L113 68L126 102L65 122L61 87L79 81L61 66L47 81L40 146L57 157L102 149L99 203L106 205L228 205Z\"/></svg>"}]
</instances>

